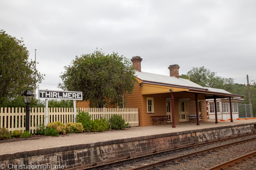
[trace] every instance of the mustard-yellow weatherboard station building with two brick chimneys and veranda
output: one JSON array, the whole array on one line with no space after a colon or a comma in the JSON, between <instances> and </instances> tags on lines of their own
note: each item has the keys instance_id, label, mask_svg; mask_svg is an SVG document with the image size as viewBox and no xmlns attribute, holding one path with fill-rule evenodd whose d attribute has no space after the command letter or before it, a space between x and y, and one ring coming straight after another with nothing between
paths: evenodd
<instances>
[{"instance_id":1,"label":"mustard-yellow weatherboard station building with two brick chimneys and veranda","mask_svg":"<svg viewBox=\"0 0 256 170\"><path fill-rule=\"evenodd\" d=\"M222 89L202 87L188 79L179 78L180 67L177 64L170 65L170 76L165 76L142 72L140 56L132 57L131 61L137 70L135 77L138 82L133 94L126 96L125 107L139 108L139 126L152 126L152 116L165 115L170 115L172 127L176 127L177 123L189 122L191 115L196 116L195 123L200 125L200 117L207 121L207 100L214 103L215 123L218 123L216 99L225 98L231 103L232 98L244 97ZM80 102L77 107L89 107L89 102ZM232 107L231 104L228 107ZM229 114L232 117L232 110Z\"/></svg>"}]
</instances>

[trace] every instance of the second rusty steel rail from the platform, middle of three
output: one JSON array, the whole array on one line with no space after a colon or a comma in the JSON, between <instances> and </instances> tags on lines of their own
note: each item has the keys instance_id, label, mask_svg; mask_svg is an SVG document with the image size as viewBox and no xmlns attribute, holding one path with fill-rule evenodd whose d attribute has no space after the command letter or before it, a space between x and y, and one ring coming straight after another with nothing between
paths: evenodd
<instances>
[{"instance_id":1,"label":"second rusty steel rail from the platform, middle of three","mask_svg":"<svg viewBox=\"0 0 256 170\"><path fill-rule=\"evenodd\" d=\"M212 148L209 148L209 149L197 151L197 152L194 152L194 153L182 155L182 156L175 157L175 158L165 159L163 161L159 161L159 162L155 162L155 163L150 163L148 165L143 165L143 166L140 166L140 167L135 167L135 168L132 168L132 169L129 169L129 170L148 170L148 169L152 169L154 167L163 166L165 164L172 163L173 161L176 162L176 161L180 161L182 159L188 159L188 158L191 158L191 157L195 157L197 155L206 154L208 152L211 152L211 151L214 151L214 150L217 150L217 149L222 149L222 148L225 148L225 147L229 147L229 146L237 145L239 143L244 143L244 142L253 141L253 140L256 140L256 137L255 138L250 138L250 139L245 139L245 140L238 141L238 142L228 143L228 144L217 146L217 147L212 147Z\"/></svg>"}]
</instances>

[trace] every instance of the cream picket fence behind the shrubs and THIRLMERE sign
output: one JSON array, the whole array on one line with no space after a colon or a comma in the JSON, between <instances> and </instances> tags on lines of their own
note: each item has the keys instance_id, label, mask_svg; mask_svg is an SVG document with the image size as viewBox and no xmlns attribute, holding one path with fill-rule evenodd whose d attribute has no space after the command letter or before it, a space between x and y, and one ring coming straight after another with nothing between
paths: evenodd
<instances>
[{"instance_id":1,"label":"cream picket fence behind the shrubs and THIRLMERE sign","mask_svg":"<svg viewBox=\"0 0 256 170\"><path fill-rule=\"evenodd\" d=\"M81 111L89 112L91 119L106 118L108 121L112 115L121 115L129 126L139 126L138 108L76 108ZM48 118L46 118L45 108L30 108L30 132L36 133L37 125L43 122L60 121L64 124L74 122L73 108L48 108ZM0 127L5 127L10 131L25 130L26 128L26 110L25 108L0 108Z\"/></svg>"}]
</instances>

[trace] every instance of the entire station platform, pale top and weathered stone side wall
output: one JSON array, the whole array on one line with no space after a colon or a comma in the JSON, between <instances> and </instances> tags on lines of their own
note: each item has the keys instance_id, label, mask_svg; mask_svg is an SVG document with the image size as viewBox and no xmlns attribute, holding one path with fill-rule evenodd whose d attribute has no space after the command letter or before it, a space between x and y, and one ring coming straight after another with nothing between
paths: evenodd
<instances>
[{"instance_id":1,"label":"entire station platform, pale top and weathered stone side wall","mask_svg":"<svg viewBox=\"0 0 256 170\"><path fill-rule=\"evenodd\" d=\"M173 146L255 132L255 119L131 127L1 143L0 164L63 165L65 168L123 158Z\"/></svg>"}]
</instances>

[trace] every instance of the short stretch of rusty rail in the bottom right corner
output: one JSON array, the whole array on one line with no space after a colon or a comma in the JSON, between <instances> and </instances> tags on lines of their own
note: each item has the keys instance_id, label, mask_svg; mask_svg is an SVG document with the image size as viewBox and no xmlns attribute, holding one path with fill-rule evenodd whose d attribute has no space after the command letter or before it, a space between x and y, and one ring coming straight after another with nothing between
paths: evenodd
<instances>
[{"instance_id":1,"label":"short stretch of rusty rail in the bottom right corner","mask_svg":"<svg viewBox=\"0 0 256 170\"><path fill-rule=\"evenodd\" d=\"M246 155L242 155L241 157L238 157L238 158L235 158L235 159L231 159L227 162L221 163L221 164L216 165L214 167L211 167L207 170L220 170L220 169L229 167L230 165L234 165L237 162L242 162L244 159L248 159L249 157L253 157L253 156L255 156L255 154L256 154L256 151L251 152L251 153L246 154Z\"/></svg>"}]
</instances>

